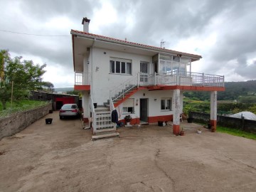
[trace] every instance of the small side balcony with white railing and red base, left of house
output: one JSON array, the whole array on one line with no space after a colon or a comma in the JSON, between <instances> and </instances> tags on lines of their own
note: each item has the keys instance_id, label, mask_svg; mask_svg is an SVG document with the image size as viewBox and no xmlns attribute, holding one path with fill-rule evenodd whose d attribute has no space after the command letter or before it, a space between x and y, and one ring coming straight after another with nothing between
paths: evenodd
<instances>
[{"instance_id":1,"label":"small side balcony with white railing and red base, left of house","mask_svg":"<svg viewBox=\"0 0 256 192\"><path fill-rule=\"evenodd\" d=\"M90 90L90 73L75 72L74 90Z\"/></svg>"}]
</instances>

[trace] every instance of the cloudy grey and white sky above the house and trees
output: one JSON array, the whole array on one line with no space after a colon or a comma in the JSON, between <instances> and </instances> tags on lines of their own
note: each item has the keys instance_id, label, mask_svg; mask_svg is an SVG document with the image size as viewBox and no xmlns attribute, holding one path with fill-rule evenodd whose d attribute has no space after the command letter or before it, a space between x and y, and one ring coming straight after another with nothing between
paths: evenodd
<instances>
[{"instance_id":1,"label":"cloudy grey and white sky above the house and trees","mask_svg":"<svg viewBox=\"0 0 256 192\"><path fill-rule=\"evenodd\" d=\"M73 87L70 30L202 55L192 72L256 80L255 0L0 0L0 49L47 64L44 81Z\"/></svg>"}]
</instances>

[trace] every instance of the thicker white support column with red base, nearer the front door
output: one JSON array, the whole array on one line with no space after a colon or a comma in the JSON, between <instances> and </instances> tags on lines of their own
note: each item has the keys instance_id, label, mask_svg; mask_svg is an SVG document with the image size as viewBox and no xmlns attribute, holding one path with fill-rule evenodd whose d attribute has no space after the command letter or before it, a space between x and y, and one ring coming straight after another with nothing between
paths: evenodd
<instances>
[{"instance_id":1,"label":"thicker white support column with red base, nearer the front door","mask_svg":"<svg viewBox=\"0 0 256 192\"><path fill-rule=\"evenodd\" d=\"M178 135L180 132L180 110L181 110L181 102L180 102L180 90L174 90L174 128L173 133Z\"/></svg>"}]
</instances>

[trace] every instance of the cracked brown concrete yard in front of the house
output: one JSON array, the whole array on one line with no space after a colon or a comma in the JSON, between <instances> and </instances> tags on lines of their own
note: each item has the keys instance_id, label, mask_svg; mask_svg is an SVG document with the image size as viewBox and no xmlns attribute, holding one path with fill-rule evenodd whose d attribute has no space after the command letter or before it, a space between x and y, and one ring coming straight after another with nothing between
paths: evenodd
<instances>
[{"instance_id":1,"label":"cracked brown concrete yard in front of the house","mask_svg":"<svg viewBox=\"0 0 256 192\"><path fill-rule=\"evenodd\" d=\"M183 123L122 127L91 140L58 112L0 141L0 191L255 191L256 141Z\"/></svg>"}]
</instances>

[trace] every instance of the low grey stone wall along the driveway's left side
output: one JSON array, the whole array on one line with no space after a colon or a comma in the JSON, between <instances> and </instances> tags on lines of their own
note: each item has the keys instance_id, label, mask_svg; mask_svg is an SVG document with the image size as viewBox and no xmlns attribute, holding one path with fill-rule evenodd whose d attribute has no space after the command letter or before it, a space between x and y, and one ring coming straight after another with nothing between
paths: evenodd
<instances>
[{"instance_id":1,"label":"low grey stone wall along the driveway's left side","mask_svg":"<svg viewBox=\"0 0 256 192\"><path fill-rule=\"evenodd\" d=\"M28 127L28 125L48 114L49 110L52 110L51 103L33 110L19 112L0 119L0 140L4 137L9 137L21 132L23 129Z\"/></svg>"}]
</instances>

